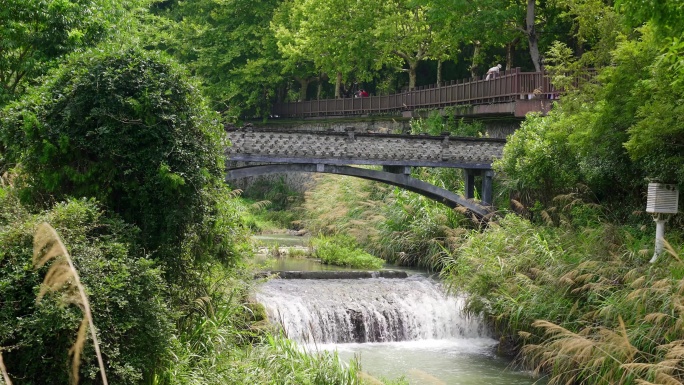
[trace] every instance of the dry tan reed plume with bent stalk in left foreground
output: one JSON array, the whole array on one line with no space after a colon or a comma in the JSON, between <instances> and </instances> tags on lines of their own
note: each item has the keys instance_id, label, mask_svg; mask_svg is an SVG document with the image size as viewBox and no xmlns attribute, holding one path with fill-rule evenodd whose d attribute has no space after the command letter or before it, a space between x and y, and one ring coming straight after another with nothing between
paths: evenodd
<instances>
[{"instance_id":1,"label":"dry tan reed plume with bent stalk in left foreground","mask_svg":"<svg viewBox=\"0 0 684 385\"><path fill-rule=\"evenodd\" d=\"M85 289L81 284L78 271L74 267L69 252L64 243L52 226L43 222L38 225L33 238L33 265L36 269L44 266L52 260L48 269L36 302L40 302L49 291L61 291L63 300L67 304L73 304L81 308L84 318L78 328L76 342L69 349L71 356L71 378L74 384L78 384L78 369L81 363L81 353L86 340L86 333L90 328L90 334L95 347L95 354L100 366L102 382L107 385L107 376L104 369L100 345L95 332L95 324L90 311L90 302L86 296Z\"/></svg>"}]
</instances>

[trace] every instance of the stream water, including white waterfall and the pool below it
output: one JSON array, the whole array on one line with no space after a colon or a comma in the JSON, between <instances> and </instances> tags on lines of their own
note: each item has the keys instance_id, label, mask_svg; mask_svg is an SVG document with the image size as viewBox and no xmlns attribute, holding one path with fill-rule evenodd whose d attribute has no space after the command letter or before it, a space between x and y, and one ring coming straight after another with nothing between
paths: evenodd
<instances>
[{"instance_id":1,"label":"stream water, including white waterfall and the pool below it","mask_svg":"<svg viewBox=\"0 0 684 385\"><path fill-rule=\"evenodd\" d=\"M302 261L281 258L270 269L322 268ZM345 360L357 356L362 370L377 378L416 385L544 383L497 356L497 341L482 320L462 312L464 298L447 295L419 271L407 279L270 280L256 299L289 338L309 350L336 350Z\"/></svg>"}]
</instances>

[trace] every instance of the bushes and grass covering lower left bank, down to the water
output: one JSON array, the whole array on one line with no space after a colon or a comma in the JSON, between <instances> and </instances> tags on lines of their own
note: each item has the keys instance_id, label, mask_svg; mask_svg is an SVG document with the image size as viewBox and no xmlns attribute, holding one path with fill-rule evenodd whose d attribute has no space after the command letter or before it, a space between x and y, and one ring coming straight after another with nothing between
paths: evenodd
<instances>
[{"instance_id":1,"label":"bushes and grass covering lower left bank, down to the water","mask_svg":"<svg viewBox=\"0 0 684 385\"><path fill-rule=\"evenodd\" d=\"M74 281L46 267L33 269L33 235L44 221L63 237L73 259L67 270L78 271L88 293L110 383L364 383L356 362L305 352L279 337L265 312L248 300L254 281L247 271L205 263L197 271L203 284L194 287L196 299L171 308L160 269L130 252L134 226L108 218L92 200L34 214L11 186L0 186L0 383L76 383L66 365L70 358L80 363L74 366L79 383L102 383L95 339L83 326L83 301L65 303L60 290L46 291L36 302L46 273L58 286Z\"/></svg>"}]
</instances>

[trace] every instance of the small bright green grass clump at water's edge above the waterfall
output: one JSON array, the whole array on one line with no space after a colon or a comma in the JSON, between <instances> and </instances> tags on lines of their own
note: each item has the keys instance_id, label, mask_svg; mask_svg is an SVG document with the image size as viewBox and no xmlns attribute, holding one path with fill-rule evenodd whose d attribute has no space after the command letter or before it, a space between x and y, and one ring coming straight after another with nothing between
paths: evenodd
<instances>
[{"instance_id":1,"label":"small bright green grass clump at water's edge above the waterfall","mask_svg":"<svg viewBox=\"0 0 684 385\"><path fill-rule=\"evenodd\" d=\"M329 265L381 269L385 261L358 248L351 237L319 236L312 240L314 256Z\"/></svg>"}]
</instances>

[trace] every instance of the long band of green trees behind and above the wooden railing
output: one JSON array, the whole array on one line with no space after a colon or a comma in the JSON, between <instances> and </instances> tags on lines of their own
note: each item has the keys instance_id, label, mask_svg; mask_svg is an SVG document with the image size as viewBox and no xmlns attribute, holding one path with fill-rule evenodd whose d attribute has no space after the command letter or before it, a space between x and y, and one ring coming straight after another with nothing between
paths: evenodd
<instances>
[{"instance_id":1,"label":"long band of green trees behind and above the wooden railing","mask_svg":"<svg viewBox=\"0 0 684 385\"><path fill-rule=\"evenodd\" d=\"M233 120L266 118L275 101L399 92L497 63L538 71L557 40L605 66L621 26L602 0L165 2L156 14L173 37L148 44L201 76Z\"/></svg>"}]
</instances>

